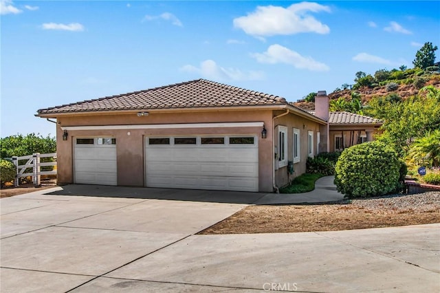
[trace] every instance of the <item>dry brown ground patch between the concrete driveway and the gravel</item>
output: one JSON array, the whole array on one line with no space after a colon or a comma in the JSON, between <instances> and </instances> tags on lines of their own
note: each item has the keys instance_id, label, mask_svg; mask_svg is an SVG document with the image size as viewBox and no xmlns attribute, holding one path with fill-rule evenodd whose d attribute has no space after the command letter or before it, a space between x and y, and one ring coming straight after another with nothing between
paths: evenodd
<instances>
[{"instance_id":1,"label":"dry brown ground patch between the concrete driveway and the gravel","mask_svg":"<svg viewBox=\"0 0 440 293\"><path fill-rule=\"evenodd\" d=\"M423 211L371 210L353 204L248 206L200 234L336 231L439 222L438 206Z\"/></svg>"}]
</instances>

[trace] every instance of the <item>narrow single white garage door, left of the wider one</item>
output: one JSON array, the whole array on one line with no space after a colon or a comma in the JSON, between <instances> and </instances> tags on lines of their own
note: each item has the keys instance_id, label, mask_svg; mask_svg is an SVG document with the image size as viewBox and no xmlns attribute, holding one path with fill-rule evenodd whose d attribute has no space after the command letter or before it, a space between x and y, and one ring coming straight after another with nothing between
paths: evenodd
<instances>
[{"instance_id":1,"label":"narrow single white garage door, left of the wider one","mask_svg":"<svg viewBox=\"0 0 440 293\"><path fill-rule=\"evenodd\" d=\"M117 185L116 139L76 138L75 183Z\"/></svg>"}]
</instances>

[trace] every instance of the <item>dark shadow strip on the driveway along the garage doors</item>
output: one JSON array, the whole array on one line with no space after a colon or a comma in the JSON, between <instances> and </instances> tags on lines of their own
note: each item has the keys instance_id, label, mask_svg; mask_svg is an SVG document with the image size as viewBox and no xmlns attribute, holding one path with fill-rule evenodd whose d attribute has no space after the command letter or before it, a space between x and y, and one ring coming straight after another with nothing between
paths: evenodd
<instances>
[{"instance_id":1,"label":"dark shadow strip on the driveway along the garage doors","mask_svg":"<svg viewBox=\"0 0 440 293\"><path fill-rule=\"evenodd\" d=\"M204 191L194 189L123 187L88 184L69 184L61 186L61 188L63 188L63 190L45 194L91 197L125 197L140 199L168 199L190 202L219 202L228 204L253 204L267 194L248 193L240 191Z\"/></svg>"}]
</instances>

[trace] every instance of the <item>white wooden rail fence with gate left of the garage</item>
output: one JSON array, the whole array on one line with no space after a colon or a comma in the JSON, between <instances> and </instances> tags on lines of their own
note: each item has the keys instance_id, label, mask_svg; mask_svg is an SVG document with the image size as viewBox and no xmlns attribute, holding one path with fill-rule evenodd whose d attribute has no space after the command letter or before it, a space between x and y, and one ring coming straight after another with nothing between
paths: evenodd
<instances>
[{"instance_id":1,"label":"white wooden rail fence with gate left of the garage","mask_svg":"<svg viewBox=\"0 0 440 293\"><path fill-rule=\"evenodd\" d=\"M12 162L16 167L16 175L14 186L19 186L21 177L32 177L32 182L35 186L41 185L41 175L56 175L56 169L52 171L41 171L43 166L56 166L54 162L40 162L41 158L54 158L56 160L56 153L34 153L32 155L23 155L23 157L12 157ZM27 160L24 165L19 165L19 161ZM25 173L26 169L32 168L32 173Z\"/></svg>"}]
</instances>

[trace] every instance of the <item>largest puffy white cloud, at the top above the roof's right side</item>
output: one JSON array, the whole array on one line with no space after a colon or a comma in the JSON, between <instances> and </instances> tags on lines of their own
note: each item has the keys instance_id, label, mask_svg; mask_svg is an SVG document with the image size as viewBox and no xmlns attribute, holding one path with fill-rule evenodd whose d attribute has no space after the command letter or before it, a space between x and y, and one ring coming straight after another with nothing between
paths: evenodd
<instances>
[{"instance_id":1,"label":"largest puffy white cloud, at the top above the roof's right side","mask_svg":"<svg viewBox=\"0 0 440 293\"><path fill-rule=\"evenodd\" d=\"M308 13L320 11L330 12L330 8L312 2L295 3L288 8L258 6L256 11L247 16L234 19L234 27L241 28L246 34L252 36L274 36L300 32L328 34L329 27Z\"/></svg>"}]
</instances>

